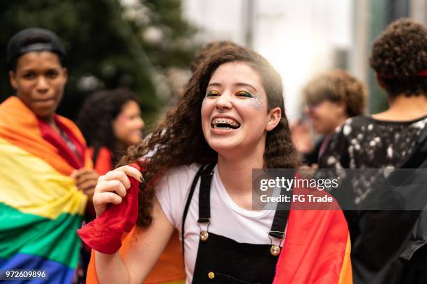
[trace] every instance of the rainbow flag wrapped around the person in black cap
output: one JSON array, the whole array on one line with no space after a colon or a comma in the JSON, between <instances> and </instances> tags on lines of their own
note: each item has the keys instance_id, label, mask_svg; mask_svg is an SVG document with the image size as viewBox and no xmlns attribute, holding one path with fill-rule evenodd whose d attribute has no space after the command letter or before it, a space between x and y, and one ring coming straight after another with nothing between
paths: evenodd
<instances>
[{"instance_id":1,"label":"rainbow flag wrapped around the person in black cap","mask_svg":"<svg viewBox=\"0 0 427 284\"><path fill-rule=\"evenodd\" d=\"M87 203L70 178L91 167L83 136L70 120L54 119L80 155L17 97L0 104L0 271L45 271L47 280L33 283L71 283Z\"/></svg>"}]
</instances>

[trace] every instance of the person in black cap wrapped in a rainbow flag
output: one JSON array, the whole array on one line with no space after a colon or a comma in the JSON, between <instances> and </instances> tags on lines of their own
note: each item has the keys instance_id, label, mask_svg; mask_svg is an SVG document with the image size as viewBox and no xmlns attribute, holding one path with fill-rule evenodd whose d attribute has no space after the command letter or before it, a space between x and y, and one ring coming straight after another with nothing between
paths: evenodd
<instances>
[{"instance_id":1,"label":"person in black cap wrapped in a rainbow flag","mask_svg":"<svg viewBox=\"0 0 427 284\"><path fill-rule=\"evenodd\" d=\"M6 60L16 96L0 104L0 271L71 283L98 174L77 126L55 113L66 52L52 31L30 28L10 39Z\"/></svg>"}]
</instances>

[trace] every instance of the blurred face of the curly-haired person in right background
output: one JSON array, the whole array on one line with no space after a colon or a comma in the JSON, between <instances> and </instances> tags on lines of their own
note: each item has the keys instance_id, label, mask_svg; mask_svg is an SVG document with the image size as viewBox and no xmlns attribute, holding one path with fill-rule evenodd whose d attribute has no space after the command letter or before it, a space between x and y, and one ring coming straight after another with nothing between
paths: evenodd
<instances>
[{"instance_id":1,"label":"blurred face of the curly-haired person in right background","mask_svg":"<svg viewBox=\"0 0 427 284\"><path fill-rule=\"evenodd\" d=\"M310 118L315 132L320 134L333 133L336 127L343 123L346 118L343 103L329 100L306 106L304 112Z\"/></svg>"}]
</instances>

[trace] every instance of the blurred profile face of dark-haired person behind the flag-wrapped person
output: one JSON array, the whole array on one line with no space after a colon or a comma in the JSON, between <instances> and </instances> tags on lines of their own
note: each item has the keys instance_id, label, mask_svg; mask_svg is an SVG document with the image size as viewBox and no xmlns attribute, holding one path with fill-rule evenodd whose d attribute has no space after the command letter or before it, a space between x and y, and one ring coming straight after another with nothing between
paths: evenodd
<instances>
[{"instance_id":1,"label":"blurred profile face of dark-haired person behind the flag-wrapped person","mask_svg":"<svg viewBox=\"0 0 427 284\"><path fill-rule=\"evenodd\" d=\"M141 129L144 127L140 106L134 101L126 102L121 112L112 122L114 136L122 145L128 146L142 139Z\"/></svg>"}]
</instances>

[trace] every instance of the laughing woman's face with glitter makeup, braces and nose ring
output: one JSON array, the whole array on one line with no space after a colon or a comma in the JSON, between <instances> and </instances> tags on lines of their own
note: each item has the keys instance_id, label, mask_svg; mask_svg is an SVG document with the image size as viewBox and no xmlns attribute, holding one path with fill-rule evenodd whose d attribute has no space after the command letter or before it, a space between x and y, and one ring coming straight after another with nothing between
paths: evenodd
<instances>
[{"instance_id":1,"label":"laughing woman's face with glitter makeup, braces and nose ring","mask_svg":"<svg viewBox=\"0 0 427 284\"><path fill-rule=\"evenodd\" d=\"M202 104L202 129L219 154L264 150L266 133L280 115L280 108L267 111L260 77L246 63L224 63L213 72Z\"/></svg>"}]
</instances>

